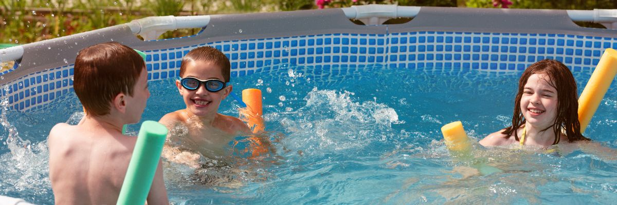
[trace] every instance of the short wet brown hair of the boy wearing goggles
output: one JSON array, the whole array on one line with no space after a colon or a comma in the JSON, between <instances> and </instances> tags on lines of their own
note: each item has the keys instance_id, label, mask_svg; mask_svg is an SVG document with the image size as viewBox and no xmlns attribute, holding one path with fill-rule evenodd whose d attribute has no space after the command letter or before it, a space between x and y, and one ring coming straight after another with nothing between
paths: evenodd
<instances>
[{"instance_id":1,"label":"short wet brown hair of the boy wearing goggles","mask_svg":"<svg viewBox=\"0 0 617 205\"><path fill-rule=\"evenodd\" d=\"M223 54L223 52L209 46L197 47L196 49L191 50L188 54L184 55L182 58L182 64L180 65L180 76L184 75L186 65L196 61L214 63L214 65L217 65L221 69L225 82L230 81L230 60L225 56L225 54Z\"/></svg>"}]
</instances>

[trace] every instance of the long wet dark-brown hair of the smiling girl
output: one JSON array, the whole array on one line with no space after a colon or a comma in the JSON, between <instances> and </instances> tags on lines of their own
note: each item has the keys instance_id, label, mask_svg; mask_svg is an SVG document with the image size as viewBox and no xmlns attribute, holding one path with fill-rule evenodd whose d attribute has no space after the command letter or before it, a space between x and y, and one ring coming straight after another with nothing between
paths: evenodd
<instances>
[{"instance_id":1,"label":"long wet dark-brown hair of the smiling girl","mask_svg":"<svg viewBox=\"0 0 617 205\"><path fill-rule=\"evenodd\" d=\"M519 141L516 130L525 124L523 113L521 113L521 97L527 80L532 74L546 74L550 79L547 79L550 86L557 90L557 116L553 123L553 132L555 132L555 143L559 142L561 132L565 132L569 142L578 140L589 140L581 134L581 123L578 120L578 92L576 90L576 81L572 72L557 60L540 60L529 66L518 81L518 94L516 94L514 114L512 115L512 125L506 127L502 134L505 134L505 139L510 138L512 134L516 141ZM549 129L547 127L543 131Z\"/></svg>"}]
</instances>

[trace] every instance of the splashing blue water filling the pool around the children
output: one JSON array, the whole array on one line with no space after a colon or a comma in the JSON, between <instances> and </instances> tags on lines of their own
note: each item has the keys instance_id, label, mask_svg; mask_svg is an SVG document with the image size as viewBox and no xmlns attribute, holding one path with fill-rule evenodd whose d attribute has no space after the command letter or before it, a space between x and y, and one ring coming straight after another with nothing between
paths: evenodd
<instances>
[{"instance_id":1,"label":"splashing blue water filling the pool around the children","mask_svg":"<svg viewBox=\"0 0 617 205\"><path fill-rule=\"evenodd\" d=\"M273 140L276 153L255 160L205 159L226 162L207 171L215 172L210 183L196 182L191 178L194 171L186 167L165 164L168 195L175 204L610 204L617 200L615 85L585 133L602 143L600 148L555 155L479 147L478 139L510 122L518 76L450 68L320 70L280 65L233 78L236 94L251 87L263 91L270 131L266 137ZM579 93L589 76L575 73ZM149 83L152 95L144 120L158 120L184 108L172 79ZM230 97L220 112L238 116L237 108ZM76 121L80 111L74 95L28 113L2 110L0 195L53 203L46 137L54 124ZM441 126L459 120L477 147L471 161L450 156L441 141ZM135 134L137 129L131 125L128 130ZM479 175L471 168L477 163L503 172Z\"/></svg>"}]
</instances>

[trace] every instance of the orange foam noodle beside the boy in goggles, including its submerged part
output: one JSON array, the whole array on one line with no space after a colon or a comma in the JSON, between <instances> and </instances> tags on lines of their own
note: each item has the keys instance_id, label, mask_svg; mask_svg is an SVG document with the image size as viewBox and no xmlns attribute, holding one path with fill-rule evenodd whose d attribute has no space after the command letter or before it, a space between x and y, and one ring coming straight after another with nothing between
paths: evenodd
<instances>
[{"instance_id":1,"label":"orange foam noodle beside the boy in goggles, including its submerged part","mask_svg":"<svg viewBox=\"0 0 617 205\"><path fill-rule=\"evenodd\" d=\"M246 108L241 108L240 115L246 121L253 133L263 132L263 105L262 105L262 90L259 89L244 89L242 90L242 101L246 104ZM259 137L247 138L251 142L251 146L247 147L252 150L252 157L259 156L268 152L265 143Z\"/></svg>"}]
</instances>

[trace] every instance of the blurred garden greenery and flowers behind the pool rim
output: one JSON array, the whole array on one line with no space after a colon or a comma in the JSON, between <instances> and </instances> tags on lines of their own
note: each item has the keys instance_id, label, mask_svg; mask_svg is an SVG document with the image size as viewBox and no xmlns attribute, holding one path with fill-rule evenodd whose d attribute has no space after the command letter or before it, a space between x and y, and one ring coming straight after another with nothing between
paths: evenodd
<instances>
[{"instance_id":1,"label":"blurred garden greenery and flowers behind the pool rim","mask_svg":"<svg viewBox=\"0 0 617 205\"><path fill-rule=\"evenodd\" d=\"M483 8L500 8L506 4L518 9L617 9L617 0L0 0L0 48L96 30L149 16L276 12L364 4ZM577 23L603 28L594 23ZM160 38L188 36L197 32L199 29L168 31ZM4 63L1 66L7 68L11 65Z\"/></svg>"}]
</instances>

